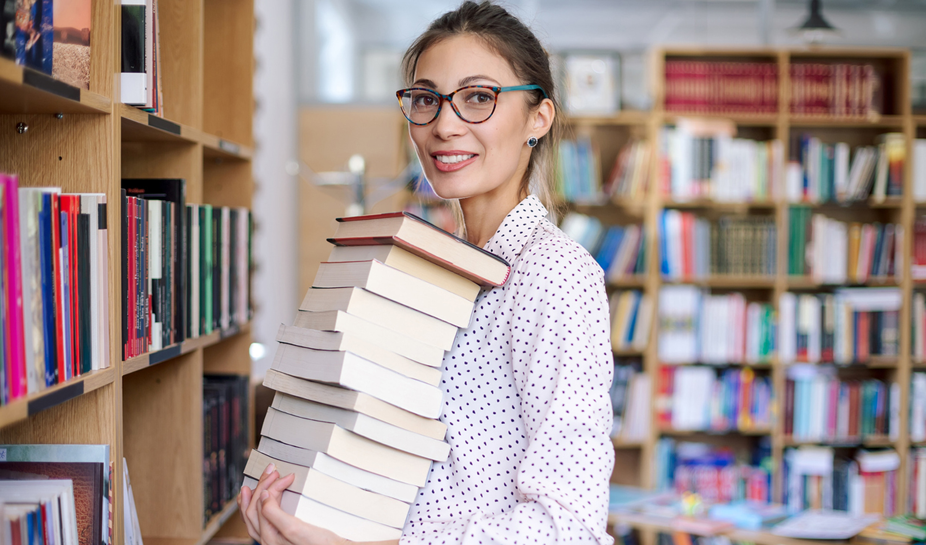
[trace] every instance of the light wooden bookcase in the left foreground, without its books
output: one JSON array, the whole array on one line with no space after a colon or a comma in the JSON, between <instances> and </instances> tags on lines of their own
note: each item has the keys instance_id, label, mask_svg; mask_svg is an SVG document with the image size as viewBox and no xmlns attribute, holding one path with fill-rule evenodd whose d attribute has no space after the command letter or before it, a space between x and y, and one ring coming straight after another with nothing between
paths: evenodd
<instances>
[{"instance_id":1,"label":"light wooden bookcase in the left foreground, without its books","mask_svg":"<svg viewBox=\"0 0 926 545\"><path fill-rule=\"evenodd\" d=\"M0 407L0 442L106 443L121 543L122 458L144 540L246 538L230 502L203 520L203 375L249 375L250 328L232 327L121 361L119 189L123 177L186 180L186 202L250 208L253 0L158 0L164 115L119 102L120 10L92 5L82 90L0 58L0 171L20 186L106 193L110 366ZM251 429L254 388L250 389Z\"/></svg>"}]
</instances>

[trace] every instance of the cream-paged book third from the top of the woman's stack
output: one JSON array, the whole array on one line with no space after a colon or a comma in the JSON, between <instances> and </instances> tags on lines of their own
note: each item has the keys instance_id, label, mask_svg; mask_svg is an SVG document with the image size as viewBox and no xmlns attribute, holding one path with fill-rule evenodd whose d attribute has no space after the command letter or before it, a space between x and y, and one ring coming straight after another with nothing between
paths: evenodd
<instances>
[{"instance_id":1,"label":"cream-paged book third from the top of the woman's stack","mask_svg":"<svg viewBox=\"0 0 926 545\"><path fill-rule=\"evenodd\" d=\"M321 263L312 286L362 287L457 327L472 316L472 301L377 260Z\"/></svg>"}]
</instances>

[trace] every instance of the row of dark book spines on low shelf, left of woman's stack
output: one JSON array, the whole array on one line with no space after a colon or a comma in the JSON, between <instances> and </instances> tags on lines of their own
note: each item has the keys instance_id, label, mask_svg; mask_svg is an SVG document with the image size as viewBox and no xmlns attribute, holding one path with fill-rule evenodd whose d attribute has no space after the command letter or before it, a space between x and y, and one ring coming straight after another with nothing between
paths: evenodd
<instances>
[{"instance_id":1,"label":"row of dark book spines on low shelf, left of woman's stack","mask_svg":"<svg viewBox=\"0 0 926 545\"><path fill-rule=\"evenodd\" d=\"M204 525L231 501L247 462L248 378L203 377Z\"/></svg>"}]
</instances>

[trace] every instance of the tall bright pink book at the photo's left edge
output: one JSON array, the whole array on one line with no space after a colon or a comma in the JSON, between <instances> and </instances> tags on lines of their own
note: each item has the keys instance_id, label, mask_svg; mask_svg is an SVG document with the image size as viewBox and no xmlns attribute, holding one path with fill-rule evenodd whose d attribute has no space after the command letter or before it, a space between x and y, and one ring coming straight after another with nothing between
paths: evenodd
<instances>
[{"instance_id":1,"label":"tall bright pink book at the photo's left edge","mask_svg":"<svg viewBox=\"0 0 926 545\"><path fill-rule=\"evenodd\" d=\"M6 200L3 241L6 271L6 361L9 399L26 395L26 339L22 323L22 269L19 262L19 180L0 175Z\"/></svg>"}]
</instances>

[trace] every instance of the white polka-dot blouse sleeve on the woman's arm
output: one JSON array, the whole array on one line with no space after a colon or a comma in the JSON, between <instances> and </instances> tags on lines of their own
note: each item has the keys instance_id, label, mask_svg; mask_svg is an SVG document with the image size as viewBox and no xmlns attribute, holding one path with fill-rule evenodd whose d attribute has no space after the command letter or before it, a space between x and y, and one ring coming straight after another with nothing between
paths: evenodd
<instances>
[{"instance_id":1,"label":"white polka-dot blouse sleeve on the woman's arm","mask_svg":"<svg viewBox=\"0 0 926 545\"><path fill-rule=\"evenodd\" d=\"M612 543L613 356L604 275L562 236L524 251L530 253L509 280L518 290L511 358L528 439L516 475L518 503L505 513L434 523L403 545Z\"/></svg>"}]
</instances>

